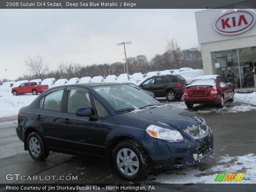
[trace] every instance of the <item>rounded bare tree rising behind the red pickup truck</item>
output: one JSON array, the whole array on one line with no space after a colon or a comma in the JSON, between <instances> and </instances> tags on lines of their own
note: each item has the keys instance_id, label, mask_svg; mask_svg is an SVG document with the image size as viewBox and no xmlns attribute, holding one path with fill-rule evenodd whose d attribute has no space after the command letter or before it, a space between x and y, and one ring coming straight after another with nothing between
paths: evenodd
<instances>
[{"instance_id":1,"label":"rounded bare tree rising behind the red pickup truck","mask_svg":"<svg viewBox=\"0 0 256 192\"><path fill-rule=\"evenodd\" d=\"M45 63L45 58L41 55L27 56L26 60L24 60L24 65L35 78L44 77L48 71L48 64Z\"/></svg>"}]
</instances>

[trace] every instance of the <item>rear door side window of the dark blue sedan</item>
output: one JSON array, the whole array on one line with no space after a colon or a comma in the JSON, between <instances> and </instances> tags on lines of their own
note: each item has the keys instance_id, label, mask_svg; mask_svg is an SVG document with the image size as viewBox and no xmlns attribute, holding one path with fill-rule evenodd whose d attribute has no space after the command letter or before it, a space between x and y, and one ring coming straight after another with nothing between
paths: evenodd
<instances>
[{"instance_id":1,"label":"rear door side window of the dark blue sedan","mask_svg":"<svg viewBox=\"0 0 256 192\"><path fill-rule=\"evenodd\" d=\"M64 90L58 90L45 96L43 109L60 111Z\"/></svg>"}]
</instances>

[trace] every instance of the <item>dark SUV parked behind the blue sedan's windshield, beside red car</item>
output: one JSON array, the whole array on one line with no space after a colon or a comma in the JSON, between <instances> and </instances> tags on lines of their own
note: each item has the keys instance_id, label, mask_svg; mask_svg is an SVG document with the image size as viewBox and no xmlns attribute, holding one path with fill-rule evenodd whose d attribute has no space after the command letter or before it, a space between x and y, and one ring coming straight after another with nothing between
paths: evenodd
<instances>
[{"instance_id":1,"label":"dark SUV parked behind the blue sedan's windshield, beside red car","mask_svg":"<svg viewBox=\"0 0 256 192\"><path fill-rule=\"evenodd\" d=\"M186 80L180 75L153 76L139 85L151 91L155 97L166 97L169 101L181 98L186 87Z\"/></svg>"}]
</instances>

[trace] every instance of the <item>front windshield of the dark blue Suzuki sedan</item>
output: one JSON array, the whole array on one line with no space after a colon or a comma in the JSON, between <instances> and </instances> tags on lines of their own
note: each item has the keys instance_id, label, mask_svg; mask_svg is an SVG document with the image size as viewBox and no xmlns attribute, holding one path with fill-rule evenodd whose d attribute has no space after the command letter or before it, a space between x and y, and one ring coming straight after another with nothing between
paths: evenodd
<instances>
[{"instance_id":1,"label":"front windshield of the dark blue Suzuki sedan","mask_svg":"<svg viewBox=\"0 0 256 192\"><path fill-rule=\"evenodd\" d=\"M163 105L145 92L130 85L116 84L93 87L117 111L132 111Z\"/></svg>"}]
</instances>

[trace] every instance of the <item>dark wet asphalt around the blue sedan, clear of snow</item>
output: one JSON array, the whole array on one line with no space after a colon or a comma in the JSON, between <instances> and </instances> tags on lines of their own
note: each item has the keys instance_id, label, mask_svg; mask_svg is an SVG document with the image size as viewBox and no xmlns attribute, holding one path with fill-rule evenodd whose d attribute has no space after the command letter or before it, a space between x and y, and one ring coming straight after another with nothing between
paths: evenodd
<instances>
[{"instance_id":1,"label":"dark wet asphalt around the blue sedan, clear of snow","mask_svg":"<svg viewBox=\"0 0 256 192\"><path fill-rule=\"evenodd\" d=\"M197 113L197 110L194 109L192 112ZM214 154L195 167L200 170L207 169L224 155L256 154L255 113L256 110L226 114L198 113L212 128ZM17 120L10 118L0 121L0 183L129 183L123 180L113 167L108 167L106 160L102 158L51 152L44 161L33 160L28 151L23 150L23 143L16 136L16 125ZM12 174L8 176L8 179L12 177L12 180L6 179L7 174ZM164 174L164 172L151 173L150 178L157 174ZM38 180L21 180L20 176L37 177ZM55 176L55 178L48 180L47 176ZM72 176L77 179L72 180ZM141 182L154 183L154 177Z\"/></svg>"}]
</instances>

